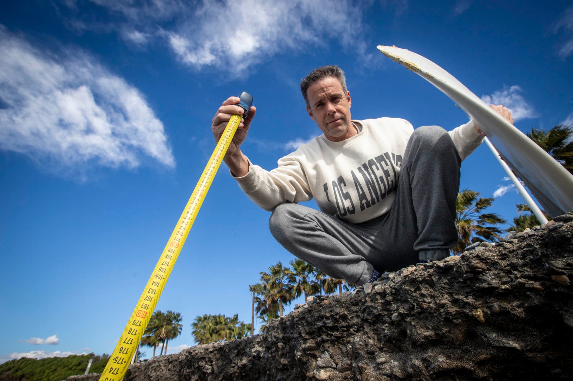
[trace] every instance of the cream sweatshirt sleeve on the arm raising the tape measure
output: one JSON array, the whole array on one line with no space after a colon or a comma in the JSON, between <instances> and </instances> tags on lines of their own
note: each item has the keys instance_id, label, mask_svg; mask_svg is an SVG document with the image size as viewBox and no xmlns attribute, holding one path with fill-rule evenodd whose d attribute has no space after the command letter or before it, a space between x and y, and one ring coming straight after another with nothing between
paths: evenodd
<instances>
[{"instance_id":1,"label":"cream sweatshirt sleeve on the arm raising the tape measure","mask_svg":"<svg viewBox=\"0 0 573 381\"><path fill-rule=\"evenodd\" d=\"M249 160L249 172L245 176L233 178L245 195L265 211L272 211L281 203L299 203L312 199L303 166L292 156L282 157L278 160L278 167L270 171Z\"/></svg>"}]
</instances>

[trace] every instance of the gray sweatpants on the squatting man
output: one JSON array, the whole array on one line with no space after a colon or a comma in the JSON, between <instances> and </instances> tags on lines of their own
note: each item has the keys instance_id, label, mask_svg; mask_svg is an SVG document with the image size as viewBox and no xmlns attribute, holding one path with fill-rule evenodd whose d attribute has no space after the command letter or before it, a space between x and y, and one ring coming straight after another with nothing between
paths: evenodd
<instances>
[{"instance_id":1,"label":"gray sweatpants on the squatting man","mask_svg":"<svg viewBox=\"0 0 573 381\"><path fill-rule=\"evenodd\" d=\"M390 212L351 224L299 204L278 205L270 232L289 252L335 279L362 285L373 269L396 271L457 243L461 158L438 126L414 130ZM442 255L443 256L443 255Z\"/></svg>"}]
</instances>

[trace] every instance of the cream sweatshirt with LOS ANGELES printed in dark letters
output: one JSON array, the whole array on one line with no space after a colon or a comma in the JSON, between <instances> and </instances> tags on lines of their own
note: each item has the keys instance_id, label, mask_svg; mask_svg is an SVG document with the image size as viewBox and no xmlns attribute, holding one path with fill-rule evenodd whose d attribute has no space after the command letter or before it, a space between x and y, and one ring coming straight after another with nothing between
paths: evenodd
<instances>
[{"instance_id":1,"label":"cream sweatshirt with LOS ANGELES printed in dark letters","mask_svg":"<svg viewBox=\"0 0 573 381\"><path fill-rule=\"evenodd\" d=\"M350 223L383 215L396 196L402 158L414 128L398 118L352 123L359 132L347 140L334 142L322 134L280 158L277 168L267 171L249 160L249 172L234 178L266 211L314 197L321 211ZM462 160L483 140L473 126L470 121L449 131Z\"/></svg>"}]
</instances>

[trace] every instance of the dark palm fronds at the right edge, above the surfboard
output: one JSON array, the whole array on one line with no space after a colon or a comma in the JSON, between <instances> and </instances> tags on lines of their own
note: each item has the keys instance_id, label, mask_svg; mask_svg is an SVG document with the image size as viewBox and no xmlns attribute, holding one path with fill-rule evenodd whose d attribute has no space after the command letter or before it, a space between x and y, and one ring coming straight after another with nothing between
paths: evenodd
<instances>
[{"instance_id":1,"label":"dark palm fronds at the right edge, above the surfboard","mask_svg":"<svg viewBox=\"0 0 573 381\"><path fill-rule=\"evenodd\" d=\"M556 125L549 131L532 128L526 135L550 154L559 164L573 173L573 128Z\"/></svg>"}]
</instances>

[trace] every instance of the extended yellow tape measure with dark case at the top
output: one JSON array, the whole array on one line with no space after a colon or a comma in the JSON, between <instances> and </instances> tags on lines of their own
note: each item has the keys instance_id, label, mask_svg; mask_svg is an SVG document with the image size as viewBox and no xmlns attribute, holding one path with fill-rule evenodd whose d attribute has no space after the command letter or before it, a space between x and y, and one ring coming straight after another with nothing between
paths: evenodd
<instances>
[{"instance_id":1,"label":"extended yellow tape measure with dark case at the top","mask_svg":"<svg viewBox=\"0 0 573 381\"><path fill-rule=\"evenodd\" d=\"M167 279L169 279L169 275L171 274L171 270L175 265L175 261L183 248L183 244L185 244L185 240L197 217L199 208L201 208L203 200L205 200L205 195L211 186L211 182L213 182L213 177L215 173L217 173L219 165L221 165L221 161L229 148L231 140L233 140L233 136L241 123L241 118L249 114L253 97L243 92L239 98L241 101L238 105L241 106L245 112L242 115L231 116L231 120L227 123L205 170L203 170L203 174L201 174L201 178L199 178L197 186L195 186L193 190L193 194L187 202L187 205L185 205L185 209L181 217L179 217L179 221L177 225L175 225L175 229L171 233L171 237L167 241L167 245L163 249L163 253L151 273L150 279L147 281L146 287L143 289L142 295L139 297L138 304L135 305L134 312L131 313L131 317L121 334L119 342L117 342L117 346L115 350L113 350L107 366L105 366L105 370L100 376L100 381L123 380L123 376L125 372L127 372L131 359L134 358L135 352L139 347L139 342L151 319L151 314L155 311L159 296L161 296Z\"/></svg>"}]
</instances>

